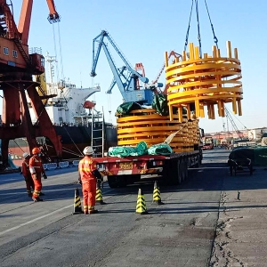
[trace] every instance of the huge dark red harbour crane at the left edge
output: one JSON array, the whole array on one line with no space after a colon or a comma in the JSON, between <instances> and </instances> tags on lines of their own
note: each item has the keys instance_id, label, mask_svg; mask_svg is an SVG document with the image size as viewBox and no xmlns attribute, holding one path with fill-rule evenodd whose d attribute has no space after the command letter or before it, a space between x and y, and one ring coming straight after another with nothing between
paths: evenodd
<instances>
[{"instance_id":1,"label":"huge dark red harbour crane at the left edge","mask_svg":"<svg viewBox=\"0 0 267 267\"><path fill-rule=\"evenodd\" d=\"M2 161L5 168L8 163L9 141L26 137L29 150L36 146L36 137L45 136L53 143L55 155L61 158L61 136L58 136L48 116L44 104L36 91L39 84L33 75L44 73L44 56L28 53L28 33L33 0L23 0L18 27L14 21L12 4L0 0L0 90L3 90L2 125ZM50 10L48 20L60 21L53 0L47 0ZM26 98L26 91L35 110L37 123L33 125Z\"/></svg>"}]
</instances>

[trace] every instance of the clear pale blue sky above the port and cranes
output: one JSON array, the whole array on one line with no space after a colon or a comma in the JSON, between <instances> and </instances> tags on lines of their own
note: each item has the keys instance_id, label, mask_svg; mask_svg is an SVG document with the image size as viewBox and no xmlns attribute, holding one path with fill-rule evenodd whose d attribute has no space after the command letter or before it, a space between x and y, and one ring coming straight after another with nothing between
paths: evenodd
<instances>
[{"instance_id":1,"label":"clear pale blue sky above the port and cranes","mask_svg":"<svg viewBox=\"0 0 267 267\"><path fill-rule=\"evenodd\" d=\"M9 1L7 1L9 2ZM19 21L22 1L12 0L14 17ZM117 85L111 94L105 93L113 75L103 51L96 67L96 77L90 77L93 58L93 38L102 29L109 32L126 60L134 66L142 62L150 81L158 76L164 64L165 52L182 53L190 19L191 0L54 0L61 22L46 20L45 0L35 0L28 38L29 47L42 48L58 59L59 76L69 79L77 87L101 85L101 93L89 100L96 101L96 109L105 112L106 120L116 123L114 116L122 96ZM221 56L226 56L226 41L239 50L242 68L243 115L232 115L239 128L267 126L266 60L267 60L267 1L206 0L214 26ZM202 52L212 54L214 36L206 12L205 0L198 0L198 20ZM198 45L195 5L190 20L189 42ZM109 44L108 44L109 45ZM124 65L109 45L117 68ZM165 73L158 82L165 84ZM231 106L226 105L231 109ZM110 111L110 112L109 112ZM207 117L207 116L206 116ZM233 130L231 122L215 115L214 120L199 119L206 133ZM227 126L228 125L228 126Z\"/></svg>"}]
</instances>

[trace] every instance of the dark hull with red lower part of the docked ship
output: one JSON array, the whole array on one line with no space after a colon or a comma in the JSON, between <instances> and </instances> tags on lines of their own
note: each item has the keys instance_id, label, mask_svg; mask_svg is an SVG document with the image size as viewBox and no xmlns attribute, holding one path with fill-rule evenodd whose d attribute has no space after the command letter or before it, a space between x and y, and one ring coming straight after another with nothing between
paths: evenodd
<instances>
[{"instance_id":1,"label":"dark hull with red lower part of the docked ship","mask_svg":"<svg viewBox=\"0 0 267 267\"><path fill-rule=\"evenodd\" d=\"M52 162L57 160L74 160L83 157L83 150L86 146L92 144L92 127L75 126L75 125L54 125L54 129L58 135L61 136L62 143L62 158L57 158L56 151L53 149L53 144L44 137L38 137L38 146L43 147L44 155L47 160ZM100 154L102 151L102 133L104 133L104 151L108 151L109 147L117 146L117 128L114 125L105 125L102 132L102 125L96 124L93 127L93 147L96 153ZM18 162L22 158L24 152L29 153L28 142L26 138L19 138L11 140L9 143L9 152L14 162Z\"/></svg>"}]
</instances>

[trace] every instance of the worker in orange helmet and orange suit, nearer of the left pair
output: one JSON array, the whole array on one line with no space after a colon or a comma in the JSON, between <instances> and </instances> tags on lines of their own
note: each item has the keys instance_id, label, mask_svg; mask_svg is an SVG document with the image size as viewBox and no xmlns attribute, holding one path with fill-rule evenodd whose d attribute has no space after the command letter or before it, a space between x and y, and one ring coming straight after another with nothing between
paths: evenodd
<instances>
[{"instance_id":1,"label":"worker in orange helmet and orange suit, nearer of the left pair","mask_svg":"<svg viewBox=\"0 0 267 267\"><path fill-rule=\"evenodd\" d=\"M31 177L35 183L35 190L32 194L32 199L37 201L43 201L42 198L39 198L41 190L42 190L42 175L44 179L47 179L46 174L44 173L44 167L42 164L42 160L40 158L41 156L41 150L39 148L34 148L32 150L33 156L29 159L29 172L31 174Z\"/></svg>"}]
</instances>

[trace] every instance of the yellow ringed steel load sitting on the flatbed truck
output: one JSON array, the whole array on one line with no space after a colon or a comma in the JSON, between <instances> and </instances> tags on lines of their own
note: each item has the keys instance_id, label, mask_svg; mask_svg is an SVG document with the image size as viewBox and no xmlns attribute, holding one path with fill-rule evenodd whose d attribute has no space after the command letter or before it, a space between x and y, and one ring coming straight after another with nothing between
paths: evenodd
<instances>
[{"instance_id":1,"label":"yellow ringed steel load sitting on the flatbed truck","mask_svg":"<svg viewBox=\"0 0 267 267\"><path fill-rule=\"evenodd\" d=\"M160 116L156 109L138 109L130 116L117 117L117 144L119 146L137 145L144 141L151 145L165 142L166 138L179 131L173 138L170 146L175 152L192 151L199 143L198 119L190 120L178 115Z\"/></svg>"}]
</instances>

